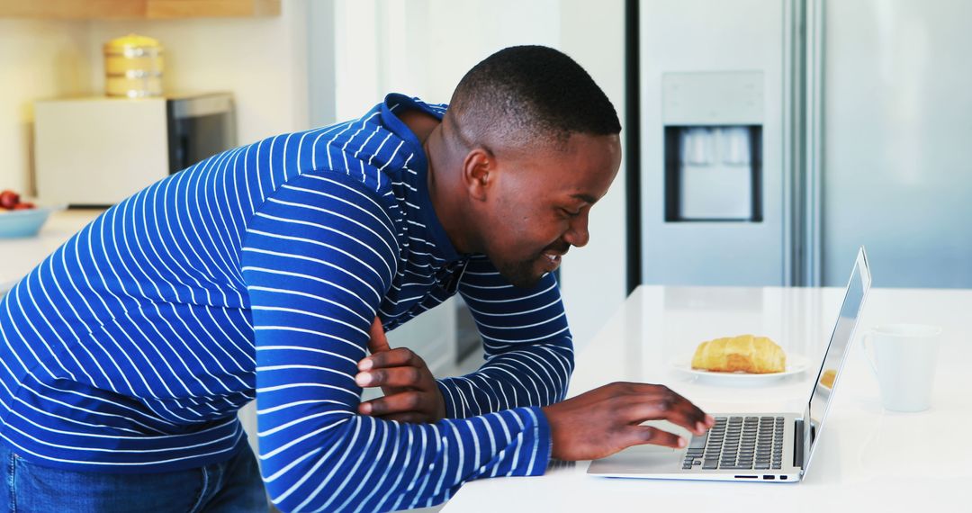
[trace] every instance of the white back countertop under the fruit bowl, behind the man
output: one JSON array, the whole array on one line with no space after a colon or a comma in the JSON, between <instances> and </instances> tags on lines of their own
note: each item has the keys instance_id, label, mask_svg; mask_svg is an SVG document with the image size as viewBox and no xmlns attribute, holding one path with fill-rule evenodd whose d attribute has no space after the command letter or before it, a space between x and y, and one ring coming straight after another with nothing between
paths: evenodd
<instances>
[{"instance_id":1,"label":"white back countertop under the fruit bowl, behind the man","mask_svg":"<svg viewBox=\"0 0 972 513\"><path fill-rule=\"evenodd\" d=\"M35 237L0 239L0 291L13 285L104 210L54 212Z\"/></svg>"}]
</instances>

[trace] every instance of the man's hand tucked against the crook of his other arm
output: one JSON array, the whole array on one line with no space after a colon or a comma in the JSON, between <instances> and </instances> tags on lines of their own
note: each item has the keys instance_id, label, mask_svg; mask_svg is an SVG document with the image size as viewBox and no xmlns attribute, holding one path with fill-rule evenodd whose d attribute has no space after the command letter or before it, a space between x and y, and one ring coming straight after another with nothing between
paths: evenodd
<instances>
[{"instance_id":1,"label":"man's hand tucked against the crook of his other arm","mask_svg":"<svg viewBox=\"0 0 972 513\"><path fill-rule=\"evenodd\" d=\"M371 324L367 344L371 356L358 363L355 382L381 387L384 397L358 406L362 415L406 423L434 423L445 417L445 401L424 359L408 348L392 349L381 321Z\"/></svg>"}]
</instances>

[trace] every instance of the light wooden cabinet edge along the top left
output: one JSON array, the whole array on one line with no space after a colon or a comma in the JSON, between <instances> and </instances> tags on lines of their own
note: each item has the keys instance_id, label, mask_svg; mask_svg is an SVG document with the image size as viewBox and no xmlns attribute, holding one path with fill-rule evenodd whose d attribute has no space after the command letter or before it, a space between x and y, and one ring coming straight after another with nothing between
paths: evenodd
<instances>
[{"instance_id":1,"label":"light wooden cabinet edge along the top left","mask_svg":"<svg viewBox=\"0 0 972 513\"><path fill-rule=\"evenodd\" d=\"M0 0L0 17L175 19L278 17L281 0Z\"/></svg>"}]
</instances>

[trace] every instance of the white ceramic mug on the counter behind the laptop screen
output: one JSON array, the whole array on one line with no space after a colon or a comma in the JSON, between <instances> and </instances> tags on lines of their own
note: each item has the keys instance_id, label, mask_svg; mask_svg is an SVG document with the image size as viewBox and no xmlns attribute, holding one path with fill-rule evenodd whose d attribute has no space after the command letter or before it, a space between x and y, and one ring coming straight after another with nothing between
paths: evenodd
<instances>
[{"instance_id":1,"label":"white ceramic mug on the counter behind the laptop screen","mask_svg":"<svg viewBox=\"0 0 972 513\"><path fill-rule=\"evenodd\" d=\"M864 352L878 377L885 409L928 409L941 333L936 325L877 325L864 334Z\"/></svg>"}]
</instances>

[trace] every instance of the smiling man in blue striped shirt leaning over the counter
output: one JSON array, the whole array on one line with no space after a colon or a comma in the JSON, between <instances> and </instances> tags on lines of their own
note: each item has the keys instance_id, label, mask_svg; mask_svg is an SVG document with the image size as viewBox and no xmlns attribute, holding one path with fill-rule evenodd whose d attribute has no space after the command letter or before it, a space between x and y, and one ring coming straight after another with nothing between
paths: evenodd
<instances>
[{"instance_id":1,"label":"smiling man in blue striped shirt leaning over the counter","mask_svg":"<svg viewBox=\"0 0 972 513\"><path fill-rule=\"evenodd\" d=\"M254 398L262 481L284 511L431 505L551 457L684 445L639 426L712 425L663 387L563 401L573 351L551 272L588 241L619 131L570 57L517 47L470 70L448 109L392 94L126 199L0 303L6 496L265 510L236 419ZM383 332L457 291L487 359L435 381ZM386 395L362 403L362 387Z\"/></svg>"}]
</instances>

